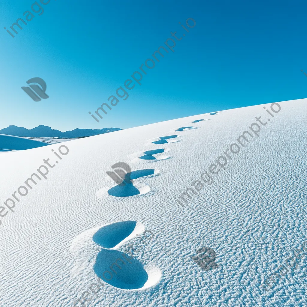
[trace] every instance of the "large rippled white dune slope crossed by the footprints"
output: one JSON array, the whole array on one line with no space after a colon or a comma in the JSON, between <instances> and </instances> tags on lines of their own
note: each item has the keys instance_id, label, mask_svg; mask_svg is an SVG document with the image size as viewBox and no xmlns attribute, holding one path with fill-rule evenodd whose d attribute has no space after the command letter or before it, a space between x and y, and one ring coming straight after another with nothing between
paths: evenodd
<instances>
[{"instance_id":1,"label":"large rippled white dune slope crossed by the footprints","mask_svg":"<svg viewBox=\"0 0 307 307\"><path fill-rule=\"evenodd\" d=\"M0 207L0 305L306 306L307 99L279 103L274 118L270 105L73 140L63 143L68 153L52 144L1 154L0 206L16 204ZM230 152L255 116L270 121ZM218 158L227 149L225 164ZM48 179L27 187L48 158ZM120 161L131 166L132 185L106 175ZM220 171L209 185L200 177L212 164ZM187 188L196 192L185 203ZM215 251L215 269L192 260L200 247ZM296 249L306 256L265 291ZM119 258L120 270L112 266Z\"/></svg>"}]
</instances>

